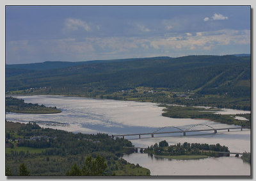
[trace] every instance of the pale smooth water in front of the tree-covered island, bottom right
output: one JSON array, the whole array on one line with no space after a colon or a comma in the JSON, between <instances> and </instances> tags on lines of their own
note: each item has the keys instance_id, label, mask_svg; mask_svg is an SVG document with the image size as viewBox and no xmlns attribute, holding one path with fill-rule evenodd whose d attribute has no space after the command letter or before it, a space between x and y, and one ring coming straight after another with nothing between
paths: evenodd
<instances>
[{"instance_id":1,"label":"pale smooth water in front of the tree-covered island, bottom right","mask_svg":"<svg viewBox=\"0 0 256 181\"><path fill-rule=\"evenodd\" d=\"M132 153L123 155L123 159L150 169L151 175L250 175L250 164L232 156L170 160L147 153Z\"/></svg>"}]
</instances>

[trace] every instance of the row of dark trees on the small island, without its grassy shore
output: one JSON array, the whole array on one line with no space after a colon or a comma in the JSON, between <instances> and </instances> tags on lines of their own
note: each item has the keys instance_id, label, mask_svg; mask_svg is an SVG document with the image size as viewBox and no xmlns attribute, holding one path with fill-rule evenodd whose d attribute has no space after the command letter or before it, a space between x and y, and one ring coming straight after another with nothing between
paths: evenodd
<instances>
[{"instance_id":1,"label":"row of dark trees on the small island, without its grassy shore","mask_svg":"<svg viewBox=\"0 0 256 181\"><path fill-rule=\"evenodd\" d=\"M177 143L177 145L168 145L164 141L160 141L159 144L148 146L145 149L147 153L154 153L156 155L210 155L221 156L223 153L216 152L229 152L227 146L221 146L219 143L216 145L208 145L207 143Z\"/></svg>"}]
</instances>

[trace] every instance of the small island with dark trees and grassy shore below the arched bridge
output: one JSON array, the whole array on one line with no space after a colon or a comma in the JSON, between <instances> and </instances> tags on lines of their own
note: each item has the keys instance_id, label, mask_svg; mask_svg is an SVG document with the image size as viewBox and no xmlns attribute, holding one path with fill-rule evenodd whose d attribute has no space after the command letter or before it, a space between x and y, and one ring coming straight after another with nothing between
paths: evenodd
<instances>
[{"instance_id":1,"label":"small island with dark trees and grassy shore below the arched bridge","mask_svg":"<svg viewBox=\"0 0 256 181\"><path fill-rule=\"evenodd\" d=\"M227 146L221 146L219 143L216 145L200 144L200 143L177 143L177 145L168 145L164 141L159 144L148 146L144 150L145 153L154 154L157 157L166 159L204 159L207 157L228 157L230 155Z\"/></svg>"}]
</instances>

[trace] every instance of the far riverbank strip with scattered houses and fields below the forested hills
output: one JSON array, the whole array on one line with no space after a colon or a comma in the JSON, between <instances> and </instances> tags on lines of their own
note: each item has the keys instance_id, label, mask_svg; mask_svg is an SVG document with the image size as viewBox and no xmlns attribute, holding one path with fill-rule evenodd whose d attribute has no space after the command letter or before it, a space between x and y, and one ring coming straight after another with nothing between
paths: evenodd
<instances>
[{"instance_id":1,"label":"far riverbank strip with scattered houses and fields below the forested hills","mask_svg":"<svg viewBox=\"0 0 256 181\"><path fill-rule=\"evenodd\" d=\"M250 97L228 97L227 95L201 95L195 91L170 91L168 88L150 88L145 86L129 90L104 92L92 90L83 92L53 91L51 88L8 91L6 95L63 95L70 97L104 98L157 104L177 104L186 106L209 106L218 108L251 109Z\"/></svg>"}]
</instances>

